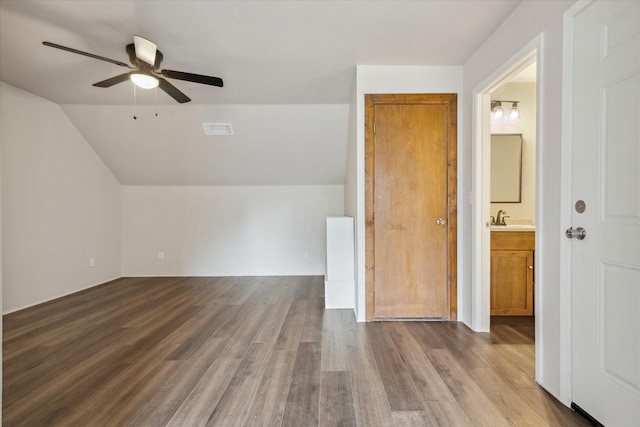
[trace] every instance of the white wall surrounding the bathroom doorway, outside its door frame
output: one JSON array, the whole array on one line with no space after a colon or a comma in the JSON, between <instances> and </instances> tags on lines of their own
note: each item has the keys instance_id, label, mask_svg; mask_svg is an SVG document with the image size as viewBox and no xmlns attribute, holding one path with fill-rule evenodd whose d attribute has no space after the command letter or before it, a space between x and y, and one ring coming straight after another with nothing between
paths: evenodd
<instances>
[{"instance_id":1,"label":"white wall surrounding the bathroom doorway, outside its door frame","mask_svg":"<svg viewBox=\"0 0 640 427\"><path fill-rule=\"evenodd\" d=\"M523 2L503 25L476 51L464 65L464 94L461 109L463 117L463 138L459 158L462 194L472 198L472 103L473 91L480 89L487 79L495 76L503 64L507 63L529 42L542 33L542 47L538 64L539 129L537 135L539 162L542 164L537 177L539 198L536 218L536 293L537 301L543 308L537 309L539 328L536 330L536 344L542 349L542 358L536 363L537 380L554 396L566 403L561 396L566 373L561 372L560 331L560 288L568 284L561 282L560 241L562 237L560 221L561 189L561 94L562 94L562 17L573 1ZM459 210L462 230L462 270L471 271L472 236L471 210ZM476 227L482 224L475 224ZM477 274L477 272L474 272ZM471 275L462 276L461 291L471 295ZM461 307L461 318L467 323L472 313L471 306Z\"/></svg>"}]
</instances>

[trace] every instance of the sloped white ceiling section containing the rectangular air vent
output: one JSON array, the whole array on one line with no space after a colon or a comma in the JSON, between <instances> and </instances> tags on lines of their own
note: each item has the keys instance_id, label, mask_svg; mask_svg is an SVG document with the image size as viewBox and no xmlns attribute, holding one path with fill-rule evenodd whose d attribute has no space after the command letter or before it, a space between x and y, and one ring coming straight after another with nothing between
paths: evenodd
<instances>
[{"instance_id":1,"label":"sloped white ceiling section containing the rectangular air vent","mask_svg":"<svg viewBox=\"0 0 640 427\"><path fill-rule=\"evenodd\" d=\"M121 184L342 185L348 105L63 105ZM158 114L156 117L155 114ZM231 123L207 136L202 123Z\"/></svg>"}]
</instances>

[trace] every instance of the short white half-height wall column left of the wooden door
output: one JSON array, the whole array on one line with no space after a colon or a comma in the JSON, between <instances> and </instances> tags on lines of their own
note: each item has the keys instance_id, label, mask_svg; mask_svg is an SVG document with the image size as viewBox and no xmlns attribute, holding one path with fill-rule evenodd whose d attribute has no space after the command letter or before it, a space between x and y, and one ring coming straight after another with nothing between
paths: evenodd
<instances>
[{"instance_id":1,"label":"short white half-height wall column left of the wooden door","mask_svg":"<svg viewBox=\"0 0 640 427\"><path fill-rule=\"evenodd\" d=\"M355 307L353 218L327 218L325 308Z\"/></svg>"}]
</instances>

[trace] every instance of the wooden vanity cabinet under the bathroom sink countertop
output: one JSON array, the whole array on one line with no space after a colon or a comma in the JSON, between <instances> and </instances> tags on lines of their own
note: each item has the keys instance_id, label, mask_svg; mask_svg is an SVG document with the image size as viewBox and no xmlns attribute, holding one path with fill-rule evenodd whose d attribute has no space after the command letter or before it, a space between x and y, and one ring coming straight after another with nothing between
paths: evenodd
<instances>
[{"instance_id":1,"label":"wooden vanity cabinet under the bathroom sink countertop","mask_svg":"<svg viewBox=\"0 0 640 427\"><path fill-rule=\"evenodd\" d=\"M491 315L533 315L534 231L491 233Z\"/></svg>"}]
</instances>

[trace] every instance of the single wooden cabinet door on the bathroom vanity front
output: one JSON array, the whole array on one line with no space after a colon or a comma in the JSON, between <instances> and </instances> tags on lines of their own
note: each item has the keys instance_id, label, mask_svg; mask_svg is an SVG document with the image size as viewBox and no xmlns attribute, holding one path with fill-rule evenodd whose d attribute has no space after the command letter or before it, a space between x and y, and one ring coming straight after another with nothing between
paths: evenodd
<instances>
[{"instance_id":1,"label":"single wooden cabinet door on the bathroom vanity front","mask_svg":"<svg viewBox=\"0 0 640 427\"><path fill-rule=\"evenodd\" d=\"M491 315L533 315L533 251L491 251Z\"/></svg>"}]
</instances>

